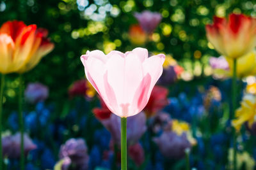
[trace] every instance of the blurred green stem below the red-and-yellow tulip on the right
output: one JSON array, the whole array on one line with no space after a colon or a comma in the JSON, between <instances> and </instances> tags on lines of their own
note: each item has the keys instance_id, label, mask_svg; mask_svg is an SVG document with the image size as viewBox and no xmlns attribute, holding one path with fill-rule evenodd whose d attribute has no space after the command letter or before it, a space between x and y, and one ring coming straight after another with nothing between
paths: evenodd
<instances>
[{"instance_id":1,"label":"blurred green stem below the red-and-yellow tulip on the right","mask_svg":"<svg viewBox=\"0 0 256 170\"><path fill-rule=\"evenodd\" d=\"M233 78L232 78L232 113L230 115L230 120L235 117L236 113L236 70L237 70L237 59L234 59L233 66ZM236 129L232 129L233 131L233 149L234 149L234 170L236 170Z\"/></svg>"}]
</instances>

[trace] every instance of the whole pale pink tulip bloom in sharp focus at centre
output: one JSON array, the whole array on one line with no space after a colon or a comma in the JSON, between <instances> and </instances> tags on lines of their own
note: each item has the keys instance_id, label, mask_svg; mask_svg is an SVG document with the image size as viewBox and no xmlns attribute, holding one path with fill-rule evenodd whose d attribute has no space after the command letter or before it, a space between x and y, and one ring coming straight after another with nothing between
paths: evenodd
<instances>
[{"instance_id":1,"label":"whole pale pink tulip bloom in sharp focus at centre","mask_svg":"<svg viewBox=\"0 0 256 170\"><path fill-rule=\"evenodd\" d=\"M81 56L87 79L92 83L112 113L131 117L148 103L156 81L163 73L163 54L148 57L145 48L132 52L100 50Z\"/></svg>"}]
</instances>

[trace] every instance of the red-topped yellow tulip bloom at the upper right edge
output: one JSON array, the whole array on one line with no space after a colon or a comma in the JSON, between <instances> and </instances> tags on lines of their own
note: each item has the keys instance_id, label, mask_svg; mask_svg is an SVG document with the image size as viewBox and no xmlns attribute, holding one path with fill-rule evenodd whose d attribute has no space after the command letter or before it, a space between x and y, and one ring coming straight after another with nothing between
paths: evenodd
<instances>
[{"instance_id":1,"label":"red-topped yellow tulip bloom at the upper right edge","mask_svg":"<svg viewBox=\"0 0 256 170\"><path fill-rule=\"evenodd\" d=\"M205 27L207 39L224 56L237 59L256 46L256 19L243 14L226 18L214 17Z\"/></svg>"}]
</instances>

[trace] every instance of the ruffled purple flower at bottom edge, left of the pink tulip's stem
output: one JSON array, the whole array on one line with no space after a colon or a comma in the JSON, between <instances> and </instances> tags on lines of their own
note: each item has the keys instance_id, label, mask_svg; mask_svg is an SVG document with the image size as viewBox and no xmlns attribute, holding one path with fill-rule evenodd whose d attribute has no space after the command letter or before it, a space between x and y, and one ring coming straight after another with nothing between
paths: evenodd
<instances>
[{"instance_id":1,"label":"ruffled purple flower at bottom edge, left of the pink tulip's stem","mask_svg":"<svg viewBox=\"0 0 256 170\"><path fill-rule=\"evenodd\" d=\"M60 159L64 159L63 169L71 163L76 169L88 169L89 156L87 152L84 139L68 139L64 145L61 145L59 153Z\"/></svg>"}]
</instances>

